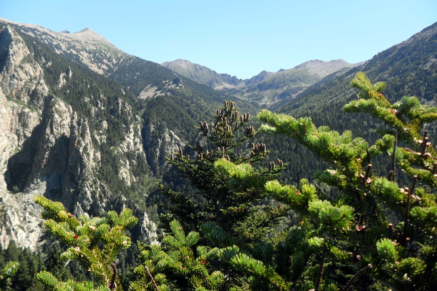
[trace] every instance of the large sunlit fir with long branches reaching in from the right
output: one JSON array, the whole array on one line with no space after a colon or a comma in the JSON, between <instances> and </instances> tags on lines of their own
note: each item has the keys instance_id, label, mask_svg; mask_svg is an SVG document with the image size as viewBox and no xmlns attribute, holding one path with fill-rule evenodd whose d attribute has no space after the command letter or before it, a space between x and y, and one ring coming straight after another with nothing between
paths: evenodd
<instances>
[{"instance_id":1,"label":"large sunlit fir with long branches reaching in from the right","mask_svg":"<svg viewBox=\"0 0 437 291\"><path fill-rule=\"evenodd\" d=\"M407 96L390 104L382 94L385 84L372 85L361 72L351 84L360 90L359 98L343 110L370 113L388 125L371 146L360 137L353 139L350 131L317 128L309 118L267 110L258 114L265 123L262 132L294 138L333 166L315 178L341 190L335 199L324 199L306 180L299 187L281 185L258 175L250 164L215 162L231 178L230 187L256 187L304 217L277 245L250 248L233 243L218 226L202 226L209 239L227 246L219 253L222 261L251 276L252 290L346 291L363 276L390 290L437 286L437 154L427 136L437 108ZM372 172L371 161L378 155L389 158L387 177ZM398 184L399 169L410 177L410 185ZM400 222L388 221L388 211ZM324 272L327 260L350 264L355 274L345 284L333 281Z\"/></svg>"}]
</instances>

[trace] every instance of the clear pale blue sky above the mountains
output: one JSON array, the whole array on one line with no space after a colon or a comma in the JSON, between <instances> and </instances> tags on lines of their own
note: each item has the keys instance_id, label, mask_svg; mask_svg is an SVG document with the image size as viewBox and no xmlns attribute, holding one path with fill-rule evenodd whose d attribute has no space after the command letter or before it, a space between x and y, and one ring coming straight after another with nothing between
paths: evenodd
<instances>
[{"instance_id":1,"label":"clear pale blue sky above the mountains","mask_svg":"<svg viewBox=\"0 0 437 291\"><path fill-rule=\"evenodd\" d=\"M250 78L311 59L351 63L437 21L437 1L0 0L0 17L54 31L89 27L121 50Z\"/></svg>"}]
</instances>

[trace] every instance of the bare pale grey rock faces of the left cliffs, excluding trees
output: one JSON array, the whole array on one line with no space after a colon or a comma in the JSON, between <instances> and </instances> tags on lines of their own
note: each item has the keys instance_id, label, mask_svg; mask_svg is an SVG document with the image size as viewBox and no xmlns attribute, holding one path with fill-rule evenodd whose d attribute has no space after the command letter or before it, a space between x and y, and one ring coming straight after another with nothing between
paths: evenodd
<instances>
[{"instance_id":1,"label":"bare pale grey rock faces of the left cliffs, excluding trees","mask_svg":"<svg viewBox=\"0 0 437 291\"><path fill-rule=\"evenodd\" d=\"M60 201L76 215L96 216L130 207L140 219L135 238L156 242L156 226L147 214L134 202L111 193L97 178L101 166L98 145L106 143L108 123L102 120L100 128L91 130L90 120L49 94L43 68L11 27L0 32L0 60L0 246L6 247L10 240L21 247L37 246L42 209L35 204L35 195ZM68 68L59 76L58 88L72 77ZM104 107L98 101L89 110L95 114ZM121 101L118 110L134 120L125 127L119 156L133 151L145 159L141 119ZM132 163L135 160L126 161L118 171L128 185L135 182Z\"/></svg>"}]
</instances>

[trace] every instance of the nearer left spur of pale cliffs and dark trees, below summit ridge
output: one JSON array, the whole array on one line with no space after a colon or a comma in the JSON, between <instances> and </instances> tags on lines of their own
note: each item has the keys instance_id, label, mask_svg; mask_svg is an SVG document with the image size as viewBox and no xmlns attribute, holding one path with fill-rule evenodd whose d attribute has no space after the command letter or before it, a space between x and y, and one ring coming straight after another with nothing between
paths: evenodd
<instances>
[{"instance_id":1,"label":"nearer left spur of pale cliffs and dark trees, below summit ridge","mask_svg":"<svg viewBox=\"0 0 437 291\"><path fill-rule=\"evenodd\" d=\"M153 179L135 95L14 28L0 38L1 244L35 247L39 194L77 214L131 205L135 236L156 240L140 203Z\"/></svg>"}]
</instances>

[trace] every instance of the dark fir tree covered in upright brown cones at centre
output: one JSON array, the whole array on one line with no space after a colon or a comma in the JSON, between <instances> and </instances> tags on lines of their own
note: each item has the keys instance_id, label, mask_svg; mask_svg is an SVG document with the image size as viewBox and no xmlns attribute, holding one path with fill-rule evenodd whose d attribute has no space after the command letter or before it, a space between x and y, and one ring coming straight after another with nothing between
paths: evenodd
<instances>
[{"instance_id":1,"label":"dark fir tree covered in upright brown cones at centre","mask_svg":"<svg viewBox=\"0 0 437 291\"><path fill-rule=\"evenodd\" d=\"M200 123L200 137L205 137L202 146L197 142L191 147L194 155L184 154L182 148L168 159L177 167L182 177L194 186L197 199L191 199L180 192L173 192L163 185L160 189L170 201L164 205L168 213L161 216L164 229L177 219L187 231L198 231L202 223L213 221L227 232L239 238L241 243L263 240L288 211L284 205L264 205L266 193L255 188L234 191L227 186L229 177L217 171L214 162L225 158L234 164L255 165L264 160L269 151L265 144L250 143L257 131L248 123L253 120L249 113L240 115L236 103L225 101L217 109L214 120ZM249 151L244 147L249 145ZM212 147L212 149L208 149ZM268 168L260 167L257 175L273 180L284 169L282 161L270 162ZM263 211L260 211L262 208Z\"/></svg>"}]
</instances>

